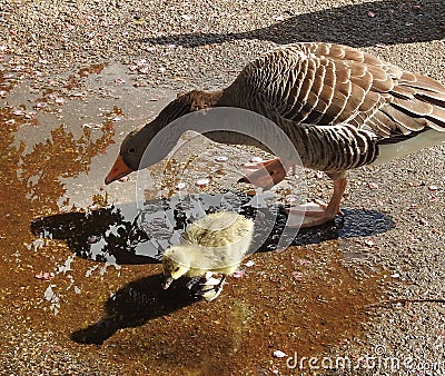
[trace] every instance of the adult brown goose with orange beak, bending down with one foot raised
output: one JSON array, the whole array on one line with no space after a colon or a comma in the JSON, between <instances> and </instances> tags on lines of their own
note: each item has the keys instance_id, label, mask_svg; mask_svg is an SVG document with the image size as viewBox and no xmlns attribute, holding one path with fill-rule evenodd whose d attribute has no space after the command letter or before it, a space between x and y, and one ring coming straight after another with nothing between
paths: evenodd
<instances>
[{"instance_id":1,"label":"adult brown goose with orange beak, bending down with one foot raised","mask_svg":"<svg viewBox=\"0 0 445 376\"><path fill-rule=\"evenodd\" d=\"M226 89L194 90L171 101L155 120L125 138L105 182L161 160L186 129L171 135L165 150L140 165L150 140L175 119L211 107L243 108L273 120L295 146L303 166L323 170L334 180L327 205L303 209L304 227L328 221L339 212L349 169L386 162L445 141L442 83L355 48L294 43L249 62ZM210 138L240 142L233 132L215 131ZM243 140L268 150L266 145ZM289 164L283 158L266 161L266 174L263 168L245 180L267 186L267 178L271 178L278 184Z\"/></svg>"}]
</instances>

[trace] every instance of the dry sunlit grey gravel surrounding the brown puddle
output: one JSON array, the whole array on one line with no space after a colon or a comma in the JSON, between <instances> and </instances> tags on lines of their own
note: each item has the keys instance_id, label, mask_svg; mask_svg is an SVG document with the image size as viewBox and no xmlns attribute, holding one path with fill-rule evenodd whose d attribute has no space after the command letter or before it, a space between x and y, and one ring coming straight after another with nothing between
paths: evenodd
<instances>
[{"instance_id":1,"label":"dry sunlit grey gravel surrounding the brown puddle","mask_svg":"<svg viewBox=\"0 0 445 376\"><path fill-rule=\"evenodd\" d=\"M118 61L128 65L135 87L187 90L227 85L246 61L277 43L323 40L366 48L445 82L444 20L443 0L3 0L0 53L9 70L38 77L39 82L83 65ZM424 150L350 176L345 206L374 208L396 222L394 229L373 236L368 248L360 246L370 264L390 276L393 283L385 285L389 298L444 297L444 150ZM325 181L312 187L323 196L327 190L320 184ZM353 246L338 243L343 251ZM343 264L352 270L364 268L359 258ZM414 368L390 372L379 365L325 374L445 375L444 313L437 303L369 308L363 335L323 355L382 355L400 363L413 358ZM20 325L12 315L2 317L8 319L0 347L4 375L127 374L116 370L106 349L77 354L70 344L51 340L51 333Z\"/></svg>"}]
</instances>

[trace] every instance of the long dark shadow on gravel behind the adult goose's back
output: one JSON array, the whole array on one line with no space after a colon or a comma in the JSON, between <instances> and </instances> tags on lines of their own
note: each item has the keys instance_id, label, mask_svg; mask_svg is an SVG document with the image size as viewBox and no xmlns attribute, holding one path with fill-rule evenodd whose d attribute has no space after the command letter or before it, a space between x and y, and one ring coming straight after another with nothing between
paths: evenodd
<instances>
[{"instance_id":1,"label":"long dark shadow on gravel behind the adult goose's back","mask_svg":"<svg viewBox=\"0 0 445 376\"><path fill-rule=\"evenodd\" d=\"M443 0L372 1L295 14L288 7L284 21L266 28L228 33L184 33L142 38L139 42L198 47L239 39L269 40L286 44L324 41L368 47L441 40L445 37Z\"/></svg>"}]
</instances>

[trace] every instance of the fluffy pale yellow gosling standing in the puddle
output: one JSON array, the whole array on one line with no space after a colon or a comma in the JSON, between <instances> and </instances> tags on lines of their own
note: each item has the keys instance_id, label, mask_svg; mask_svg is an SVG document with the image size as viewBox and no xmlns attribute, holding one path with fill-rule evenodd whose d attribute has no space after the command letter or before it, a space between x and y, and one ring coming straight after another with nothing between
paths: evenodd
<instances>
[{"instance_id":1,"label":"fluffy pale yellow gosling standing in the puddle","mask_svg":"<svg viewBox=\"0 0 445 376\"><path fill-rule=\"evenodd\" d=\"M254 221L237 212L214 212L196 220L185 231L181 244L164 253L164 288L182 276L201 277L212 271L222 275L214 287L219 295L226 276L248 254L253 237Z\"/></svg>"}]
</instances>

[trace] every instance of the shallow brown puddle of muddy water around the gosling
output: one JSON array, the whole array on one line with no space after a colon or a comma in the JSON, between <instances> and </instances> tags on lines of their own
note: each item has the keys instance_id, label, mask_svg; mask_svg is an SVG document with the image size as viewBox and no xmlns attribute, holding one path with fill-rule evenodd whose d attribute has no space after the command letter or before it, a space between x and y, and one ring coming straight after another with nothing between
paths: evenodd
<instances>
[{"instance_id":1,"label":"shallow brown puddle of muddy water around the gosling","mask_svg":"<svg viewBox=\"0 0 445 376\"><path fill-rule=\"evenodd\" d=\"M297 179L304 190L301 172L273 200L259 191L253 198L251 187L234 184L251 150L191 133L187 156L179 150L147 179L105 187L115 142L175 93L135 88L117 63L43 77L1 61L0 288L16 336L50 333L55 346L105 355L128 374L267 375L286 374L294 353L322 355L360 335L364 306L382 298L385 276L363 266L358 277L343 261L368 258L359 239L390 229L390 218L346 209L297 235L285 229L280 202ZM212 303L186 281L161 290L162 250L187 224L221 208L256 219L253 265ZM277 249L279 239L290 247ZM274 357L278 349L284 358Z\"/></svg>"}]
</instances>

